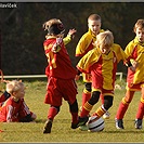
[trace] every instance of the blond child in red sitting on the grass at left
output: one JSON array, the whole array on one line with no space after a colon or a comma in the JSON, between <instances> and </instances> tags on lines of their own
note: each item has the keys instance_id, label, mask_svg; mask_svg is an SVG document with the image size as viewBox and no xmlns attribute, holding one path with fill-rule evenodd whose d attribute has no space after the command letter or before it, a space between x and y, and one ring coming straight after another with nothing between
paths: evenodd
<instances>
[{"instance_id":1,"label":"blond child in red sitting on the grass at left","mask_svg":"<svg viewBox=\"0 0 144 144\"><path fill-rule=\"evenodd\" d=\"M29 110L24 102L25 87L17 80L6 83L6 92L11 96L0 108L1 122L29 122L36 119L36 115Z\"/></svg>"}]
</instances>

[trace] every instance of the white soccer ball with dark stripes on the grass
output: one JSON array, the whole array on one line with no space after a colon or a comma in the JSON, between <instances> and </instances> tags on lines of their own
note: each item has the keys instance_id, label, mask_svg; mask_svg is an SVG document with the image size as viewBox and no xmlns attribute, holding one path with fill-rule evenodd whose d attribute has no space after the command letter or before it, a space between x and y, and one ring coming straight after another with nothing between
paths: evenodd
<instances>
[{"instance_id":1,"label":"white soccer ball with dark stripes on the grass","mask_svg":"<svg viewBox=\"0 0 144 144\"><path fill-rule=\"evenodd\" d=\"M89 131L97 132L97 131L104 130L105 122L102 117L91 116L87 125L88 125Z\"/></svg>"}]
</instances>

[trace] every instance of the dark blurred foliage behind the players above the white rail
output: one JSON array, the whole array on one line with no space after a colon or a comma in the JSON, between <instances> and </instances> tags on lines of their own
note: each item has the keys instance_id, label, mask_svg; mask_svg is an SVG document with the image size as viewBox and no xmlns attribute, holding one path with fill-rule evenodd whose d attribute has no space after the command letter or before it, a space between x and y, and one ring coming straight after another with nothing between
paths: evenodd
<instances>
[{"instance_id":1,"label":"dark blurred foliage behind the players above the white rail","mask_svg":"<svg viewBox=\"0 0 144 144\"><path fill-rule=\"evenodd\" d=\"M102 28L114 32L115 42L122 49L134 38L133 26L144 18L143 2L17 2L16 9L0 9L1 68L4 75L44 74L47 58L43 51L45 31L42 24L60 18L66 28L76 28L75 39L67 45L75 66L75 49L88 30L91 13L102 17ZM66 35L65 34L65 35ZM118 71L126 73L119 64Z\"/></svg>"}]
</instances>

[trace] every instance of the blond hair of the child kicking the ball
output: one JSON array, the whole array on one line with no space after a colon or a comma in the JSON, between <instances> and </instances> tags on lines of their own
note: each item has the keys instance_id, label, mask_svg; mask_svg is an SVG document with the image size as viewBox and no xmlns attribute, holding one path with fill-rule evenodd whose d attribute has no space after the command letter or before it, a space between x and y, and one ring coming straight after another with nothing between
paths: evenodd
<instances>
[{"instance_id":1,"label":"blond hair of the child kicking the ball","mask_svg":"<svg viewBox=\"0 0 144 144\"><path fill-rule=\"evenodd\" d=\"M112 47L112 44L114 43L114 36L113 36L113 32L109 31L109 30L106 30L104 32L100 32L97 36L96 36L96 41L94 43L94 45L96 47Z\"/></svg>"}]
</instances>

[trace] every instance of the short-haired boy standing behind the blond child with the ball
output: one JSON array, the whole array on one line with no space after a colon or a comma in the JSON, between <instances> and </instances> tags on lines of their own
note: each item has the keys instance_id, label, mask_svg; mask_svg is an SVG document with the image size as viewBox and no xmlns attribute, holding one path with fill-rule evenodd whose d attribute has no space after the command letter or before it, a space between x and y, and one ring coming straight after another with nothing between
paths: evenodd
<instances>
[{"instance_id":1,"label":"short-haired boy standing behind the blond child with the ball","mask_svg":"<svg viewBox=\"0 0 144 144\"><path fill-rule=\"evenodd\" d=\"M96 40L96 35L103 32L104 29L101 29L102 19L99 14L91 14L88 17L88 28L89 30L80 38L77 48L76 56L82 57L90 50L93 49L93 42ZM82 73L82 78L84 82L84 89L82 92L82 106L91 97L91 75ZM104 103L104 97L101 95L101 101ZM103 118L108 119L110 114L107 112ZM84 130L84 127L80 127L80 130ZM87 128L86 128L87 129Z\"/></svg>"}]
</instances>

